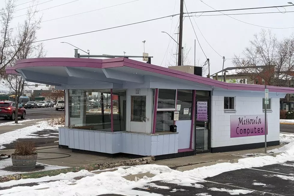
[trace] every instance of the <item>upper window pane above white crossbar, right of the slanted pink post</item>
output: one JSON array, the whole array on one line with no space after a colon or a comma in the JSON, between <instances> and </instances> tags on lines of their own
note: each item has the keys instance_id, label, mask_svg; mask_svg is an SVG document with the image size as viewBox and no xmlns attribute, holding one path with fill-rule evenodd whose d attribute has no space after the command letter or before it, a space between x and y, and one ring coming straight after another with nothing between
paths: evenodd
<instances>
[{"instance_id":1,"label":"upper window pane above white crossbar, right of the slanted pink post","mask_svg":"<svg viewBox=\"0 0 294 196\"><path fill-rule=\"evenodd\" d=\"M175 109L176 108L176 90L158 89L158 109Z\"/></svg>"}]
</instances>

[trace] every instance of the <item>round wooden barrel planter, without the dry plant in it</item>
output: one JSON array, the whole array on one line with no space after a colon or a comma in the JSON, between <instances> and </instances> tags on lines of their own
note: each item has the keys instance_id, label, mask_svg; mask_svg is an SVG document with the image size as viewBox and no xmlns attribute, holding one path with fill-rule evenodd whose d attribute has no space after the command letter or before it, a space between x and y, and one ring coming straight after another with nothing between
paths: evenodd
<instances>
[{"instance_id":1,"label":"round wooden barrel planter, without the dry plant in it","mask_svg":"<svg viewBox=\"0 0 294 196\"><path fill-rule=\"evenodd\" d=\"M15 170L32 170L36 167L38 154L11 155L12 167Z\"/></svg>"}]
</instances>

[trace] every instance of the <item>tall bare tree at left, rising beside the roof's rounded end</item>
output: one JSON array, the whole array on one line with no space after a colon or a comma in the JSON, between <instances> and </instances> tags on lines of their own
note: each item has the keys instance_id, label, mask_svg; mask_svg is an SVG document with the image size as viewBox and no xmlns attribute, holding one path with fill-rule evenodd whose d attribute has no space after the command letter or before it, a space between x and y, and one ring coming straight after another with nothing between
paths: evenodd
<instances>
[{"instance_id":1,"label":"tall bare tree at left, rising beside the roof's rounded end","mask_svg":"<svg viewBox=\"0 0 294 196\"><path fill-rule=\"evenodd\" d=\"M20 59L39 58L46 55L43 43L35 44L37 40L37 31L41 28L41 18L36 20L36 9L28 9L26 20L19 23L16 31L10 28L11 19L13 18L15 2L7 0L5 8L1 9L0 17L2 21L2 45L0 54L0 74L4 86L10 89L16 95L15 123L17 123L18 101L22 95L26 82L22 77L17 75L5 74L5 68L13 67L15 62Z\"/></svg>"}]
</instances>

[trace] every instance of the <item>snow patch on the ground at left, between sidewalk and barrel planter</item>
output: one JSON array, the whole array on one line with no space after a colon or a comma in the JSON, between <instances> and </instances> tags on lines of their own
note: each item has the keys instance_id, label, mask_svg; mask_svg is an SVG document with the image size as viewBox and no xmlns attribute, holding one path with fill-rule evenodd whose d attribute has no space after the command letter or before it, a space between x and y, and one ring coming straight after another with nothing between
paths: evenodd
<instances>
[{"instance_id":1,"label":"snow patch on the ground at left, between sidewalk and barrel planter","mask_svg":"<svg viewBox=\"0 0 294 196\"><path fill-rule=\"evenodd\" d=\"M32 125L29 127L21 128L21 129L16 129L15 131L10 131L6 132L4 134L0 134L0 149L4 149L5 147L3 144L10 144L13 141L19 139L19 138L38 138L38 134L33 134L36 131L42 131L44 129L52 129L52 130L58 130L58 126L60 125L48 125L47 121L41 121L36 125ZM58 137L56 136L49 136L49 135L44 135L43 138L46 137Z\"/></svg>"}]
</instances>

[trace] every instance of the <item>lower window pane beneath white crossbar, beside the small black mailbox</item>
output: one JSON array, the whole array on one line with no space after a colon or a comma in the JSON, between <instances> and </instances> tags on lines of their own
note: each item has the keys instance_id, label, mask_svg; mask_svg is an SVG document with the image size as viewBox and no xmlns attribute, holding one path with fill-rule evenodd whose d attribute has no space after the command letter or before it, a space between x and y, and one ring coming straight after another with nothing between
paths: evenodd
<instances>
[{"instance_id":1,"label":"lower window pane beneath white crossbar, beside the small black mailbox","mask_svg":"<svg viewBox=\"0 0 294 196\"><path fill-rule=\"evenodd\" d=\"M157 111L155 132L170 131L170 125L173 125L172 111Z\"/></svg>"}]
</instances>

